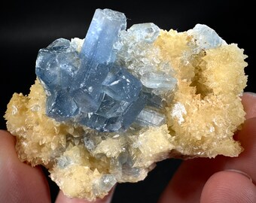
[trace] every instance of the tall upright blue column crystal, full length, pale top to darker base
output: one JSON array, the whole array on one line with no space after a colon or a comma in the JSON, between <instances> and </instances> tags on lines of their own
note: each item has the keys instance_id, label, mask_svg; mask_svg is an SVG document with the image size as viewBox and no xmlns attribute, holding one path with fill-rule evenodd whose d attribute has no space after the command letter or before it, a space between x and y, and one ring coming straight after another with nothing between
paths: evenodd
<instances>
[{"instance_id":1,"label":"tall upright blue column crystal, full length, pale top to darker base","mask_svg":"<svg viewBox=\"0 0 256 203\"><path fill-rule=\"evenodd\" d=\"M102 82L114 62L113 49L120 30L126 29L124 14L109 9L96 9L81 49L81 68L70 93L85 113L95 112L102 98ZM87 104L87 105L84 105Z\"/></svg>"}]
</instances>

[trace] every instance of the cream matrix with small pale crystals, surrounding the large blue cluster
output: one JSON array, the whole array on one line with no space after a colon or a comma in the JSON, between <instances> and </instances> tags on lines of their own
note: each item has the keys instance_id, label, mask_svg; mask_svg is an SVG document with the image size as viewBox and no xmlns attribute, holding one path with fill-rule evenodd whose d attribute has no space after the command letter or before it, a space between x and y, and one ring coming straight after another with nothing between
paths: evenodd
<instances>
[{"instance_id":1,"label":"cream matrix with small pale crystals, surrounding the large blue cluster","mask_svg":"<svg viewBox=\"0 0 256 203\"><path fill-rule=\"evenodd\" d=\"M243 50L204 25L187 32L138 25L120 32L115 62L142 80L145 94L154 95L153 103L158 98L162 103L141 110L128 129L102 132L49 117L49 92L38 78L29 95L14 93L8 104L5 119L17 139L20 160L48 168L69 197L103 198L115 183L143 180L156 162L170 157L242 152L233 135L245 120L239 97L247 81ZM83 43L74 38L69 49L80 53Z\"/></svg>"}]
</instances>

